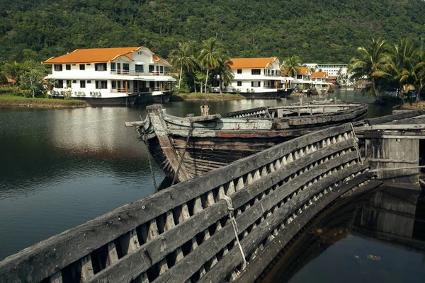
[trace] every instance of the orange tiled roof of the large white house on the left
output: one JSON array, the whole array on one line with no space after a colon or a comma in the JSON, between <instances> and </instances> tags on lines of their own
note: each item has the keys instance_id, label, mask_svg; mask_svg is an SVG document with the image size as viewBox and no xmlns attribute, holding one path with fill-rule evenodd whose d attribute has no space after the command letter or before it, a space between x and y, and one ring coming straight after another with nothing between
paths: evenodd
<instances>
[{"instance_id":1,"label":"orange tiled roof of the large white house on the left","mask_svg":"<svg viewBox=\"0 0 425 283\"><path fill-rule=\"evenodd\" d=\"M159 58L154 52L147 47L116 47L116 48L91 48L77 49L73 52L64 54L59 57L47 59L42 64L81 64L81 63L96 63L96 62L111 62L120 56L128 57L132 60L132 52L145 49L152 53L154 62L159 62L165 59ZM167 62L167 61L166 61ZM168 63L168 62L167 62Z\"/></svg>"}]
</instances>

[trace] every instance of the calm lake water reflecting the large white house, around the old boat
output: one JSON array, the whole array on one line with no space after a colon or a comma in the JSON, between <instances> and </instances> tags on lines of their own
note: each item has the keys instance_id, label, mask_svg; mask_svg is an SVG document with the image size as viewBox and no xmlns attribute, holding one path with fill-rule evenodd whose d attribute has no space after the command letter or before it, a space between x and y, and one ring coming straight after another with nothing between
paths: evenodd
<instances>
[{"instance_id":1,"label":"calm lake water reflecting the large white house, around the old boat","mask_svg":"<svg viewBox=\"0 0 425 283\"><path fill-rule=\"evenodd\" d=\"M371 101L354 91L337 91L329 95L334 96L344 100ZM210 113L220 113L262 105L285 105L298 100L237 100L208 104ZM175 102L164 105L164 108L172 115L200 115L200 105L203 104ZM145 117L145 106L0 108L0 260L154 192L147 149L138 141L135 129L124 126L124 122L140 120L140 115ZM390 107L377 105L370 105L369 110L368 117L392 112ZM171 183L156 164L154 174L162 187ZM351 238L356 239L356 236L347 236L347 239ZM372 247L385 246L385 243L358 238ZM362 246L363 242L358 241L341 243ZM341 243L336 242L329 248L334 250L329 255L334 265L344 265L344 262L337 262L341 260L340 253L346 253L344 248L339 248ZM400 248L394 249L400 250L400 254L405 253ZM395 258L399 256L397 254ZM386 261L379 263L383 262ZM424 268L423 263L421 266Z\"/></svg>"}]
</instances>

